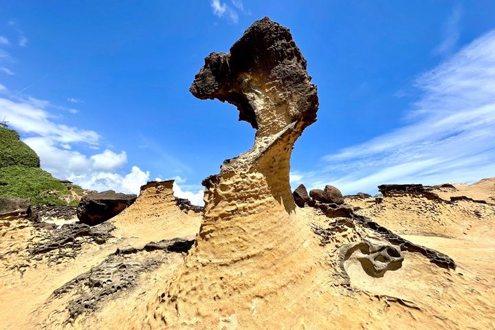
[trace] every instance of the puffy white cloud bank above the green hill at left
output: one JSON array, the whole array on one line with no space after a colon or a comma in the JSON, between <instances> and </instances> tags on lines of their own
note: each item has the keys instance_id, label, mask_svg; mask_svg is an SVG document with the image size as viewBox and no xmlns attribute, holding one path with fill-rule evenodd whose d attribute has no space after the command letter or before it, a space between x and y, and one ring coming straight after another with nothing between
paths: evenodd
<instances>
[{"instance_id":1,"label":"puffy white cloud bank above the green hill at left","mask_svg":"<svg viewBox=\"0 0 495 330\"><path fill-rule=\"evenodd\" d=\"M140 186L149 179L148 171L138 166L132 166L128 173L122 170L127 163L125 151L105 149L93 155L77 151L74 147L81 144L98 150L100 135L56 122L56 116L47 111L49 107L54 106L31 97L0 98L0 117L7 118L13 129L28 135L23 141L36 151L41 167L54 177L92 190L139 193Z\"/></svg>"}]
</instances>

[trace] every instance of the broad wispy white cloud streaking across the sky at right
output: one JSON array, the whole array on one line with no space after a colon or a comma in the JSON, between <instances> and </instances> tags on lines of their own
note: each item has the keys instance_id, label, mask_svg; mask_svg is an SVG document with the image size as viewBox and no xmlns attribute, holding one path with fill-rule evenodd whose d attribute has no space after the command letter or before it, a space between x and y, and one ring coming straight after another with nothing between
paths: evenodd
<instances>
[{"instance_id":1,"label":"broad wispy white cloud streaking across the sky at right","mask_svg":"<svg viewBox=\"0 0 495 330\"><path fill-rule=\"evenodd\" d=\"M303 173L305 184L353 193L495 176L495 30L421 74L414 87L421 96L408 124L325 156L324 168Z\"/></svg>"}]
</instances>

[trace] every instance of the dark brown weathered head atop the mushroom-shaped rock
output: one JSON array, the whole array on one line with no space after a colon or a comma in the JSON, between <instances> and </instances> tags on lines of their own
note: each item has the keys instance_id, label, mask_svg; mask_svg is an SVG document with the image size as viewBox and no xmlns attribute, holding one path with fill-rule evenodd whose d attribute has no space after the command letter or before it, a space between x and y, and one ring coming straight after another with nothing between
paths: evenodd
<instances>
[{"instance_id":1,"label":"dark brown weathered head atop the mushroom-shaped rock","mask_svg":"<svg viewBox=\"0 0 495 330\"><path fill-rule=\"evenodd\" d=\"M307 63L289 29L265 17L254 22L241 39L230 47L230 53L211 53L195 76L190 92L201 100L217 98L239 109L239 120L249 122L257 134L278 131L287 122L298 121L298 130L316 121L318 96L316 86L306 72ZM269 85L277 91L278 100L291 104L287 118L280 123L263 118L252 102L259 86ZM304 109L300 113L299 109ZM303 118L300 118L301 115ZM270 122L264 122L264 120ZM281 127L276 127L278 124Z\"/></svg>"}]
</instances>

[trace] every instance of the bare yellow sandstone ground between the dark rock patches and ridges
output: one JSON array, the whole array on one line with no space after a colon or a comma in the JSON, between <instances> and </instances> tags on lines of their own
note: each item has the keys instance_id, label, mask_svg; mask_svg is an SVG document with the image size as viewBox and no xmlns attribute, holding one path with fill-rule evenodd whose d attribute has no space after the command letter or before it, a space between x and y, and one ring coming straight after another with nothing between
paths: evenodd
<instances>
[{"instance_id":1,"label":"bare yellow sandstone ground between the dark rock patches and ridges","mask_svg":"<svg viewBox=\"0 0 495 330\"><path fill-rule=\"evenodd\" d=\"M479 183L455 185L456 190L443 197L476 194L478 199L489 199L495 194L495 179L481 182L482 187ZM153 302L160 300L164 283L185 265L181 254L167 254L166 262L137 276L135 287L102 300L96 311L79 316L73 324L65 325L68 298L51 296L58 287L98 265L116 248L132 244L139 247L153 241L146 239L150 232L155 235L155 241L159 241L199 231L198 214L179 210L170 197L171 190L156 194L153 189L144 190L133 206L111 220L116 227L112 232L114 239L104 245L85 243L75 259L61 263L30 261L25 248L40 236L36 234L40 229L33 228L27 220L4 220L0 241L0 328L146 329L147 319L155 314ZM320 245L319 237L311 230L311 225L325 225L333 219L315 208L297 208L292 221L299 229L285 235L288 241L296 241L294 236L302 239L295 251L287 256L279 254L277 248L282 249L288 243L277 241L272 251L264 253L267 261L272 261L272 267L259 267L250 261L256 256L234 262L229 272L218 272L221 265L210 266L212 270L208 275L211 277L197 278L190 283L195 283L191 286L200 290L189 292L187 301L201 302L201 305L186 311L179 306L181 315L195 316L197 324L192 325L188 318L188 326L183 320L173 327L493 329L495 205L472 201L448 204L412 195L384 197L378 205L374 199L369 201L358 214L366 214L414 243L448 254L456 261L456 270L442 269L420 254L404 252L402 267L386 272L381 278L369 276L360 263L349 259L345 268L351 285L338 285L331 265L331 253L338 246ZM434 217L428 216L430 214ZM269 218L267 215L266 219ZM270 222L265 221L268 232L274 228ZM341 243L344 241L342 238ZM158 254L140 254L134 261L150 259L153 253ZM15 268L10 270L13 265L23 264L29 266L21 268L22 273ZM254 283L255 280L258 283ZM229 283L222 284L223 281ZM239 285L242 290L211 289L209 293L221 292L221 295L201 296L198 292L205 283L221 288ZM208 321L212 318L210 314L219 314L217 324ZM155 321L159 328L159 320ZM162 323L161 327L166 325Z\"/></svg>"}]
</instances>

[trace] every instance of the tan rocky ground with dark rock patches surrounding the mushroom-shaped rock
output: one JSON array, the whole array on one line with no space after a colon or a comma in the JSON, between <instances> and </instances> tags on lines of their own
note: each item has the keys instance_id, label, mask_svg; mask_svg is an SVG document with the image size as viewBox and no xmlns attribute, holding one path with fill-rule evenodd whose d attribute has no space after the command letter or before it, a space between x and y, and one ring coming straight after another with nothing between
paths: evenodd
<instances>
[{"instance_id":1,"label":"tan rocky ground with dark rock patches surrounding the mushroom-shaped rock","mask_svg":"<svg viewBox=\"0 0 495 330\"><path fill-rule=\"evenodd\" d=\"M402 239L445 254L455 269L402 250L353 217L333 217L306 204L296 209L295 221L305 237L304 258L311 263L300 263L309 276L286 281L278 270L242 267L275 276L283 285L276 294L268 288L232 306L219 325L493 329L495 179L452 187L429 188L436 199L397 190L379 203L375 197L345 197L344 203L354 207L353 217L373 219ZM2 220L0 328L149 327L146 317L154 302L167 298L164 285L184 264L199 232L200 210L181 210L170 184L153 184L117 217L91 228L70 221L75 210L61 212L69 221L58 229L25 218ZM389 260L380 268L375 259ZM205 310L208 300L229 301L220 295L201 298ZM201 325L201 310L195 314L198 323L188 327Z\"/></svg>"}]
</instances>

